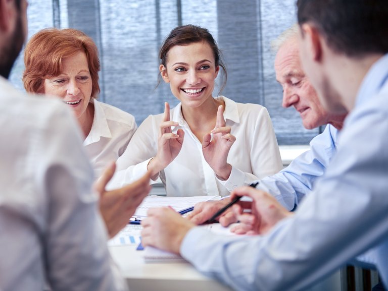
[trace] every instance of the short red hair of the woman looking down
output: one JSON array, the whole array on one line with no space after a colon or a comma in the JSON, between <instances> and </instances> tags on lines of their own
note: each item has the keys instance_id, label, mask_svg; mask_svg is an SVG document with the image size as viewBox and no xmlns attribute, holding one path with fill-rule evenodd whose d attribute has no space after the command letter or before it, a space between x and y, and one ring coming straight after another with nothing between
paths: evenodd
<instances>
[{"instance_id":1,"label":"short red hair of the woman looking down","mask_svg":"<svg viewBox=\"0 0 388 291\"><path fill-rule=\"evenodd\" d=\"M83 32L67 28L46 28L29 40L24 49L24 88L30 93L43 93L44 79L62 72L62 59L82 51L86 54L92 81L91 97L100 93L99 51L94 41Z\"/></svg>"}]
</instances>

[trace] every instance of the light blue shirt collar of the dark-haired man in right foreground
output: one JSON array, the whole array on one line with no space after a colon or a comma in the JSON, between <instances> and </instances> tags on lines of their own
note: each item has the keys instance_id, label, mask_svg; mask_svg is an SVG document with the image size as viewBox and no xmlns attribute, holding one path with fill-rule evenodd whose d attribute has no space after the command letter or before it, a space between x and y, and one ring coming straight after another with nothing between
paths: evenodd
<instances>
[{"instance_id":1,"label":"light blue shirt collar of the dark-haired man in right foreground","mask_svg":"<svg viewBox=\"0 0 388 291\"><path fill-rule=\"evenodd\" d=\"M356 106L375 96L388 80L388 53L380 57L369 69L361 82L357 94Z\"/></svg>"}]
</instances>

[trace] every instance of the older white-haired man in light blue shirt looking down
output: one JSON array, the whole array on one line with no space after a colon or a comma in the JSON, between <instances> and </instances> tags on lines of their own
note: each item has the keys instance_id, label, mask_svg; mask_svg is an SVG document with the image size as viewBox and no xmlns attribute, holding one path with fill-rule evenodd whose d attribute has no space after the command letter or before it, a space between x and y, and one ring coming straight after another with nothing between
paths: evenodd
<instances>
[{"instance_id":1,"label":"older white-haired man in light blue shirt looking down","mask_svg":"<svg viewBox=\"0 0 388 291\"><path fill-rule=\"evenodd\" d=\"M264 178L257 186L272 194L284 207L293 210L308 195L317 178L322 176L331 158L336 153L338 131L342 129L345 114L327 112L302 69L298 45L299 27L294 25L285 30L274 42L276 80L283 87L283 107L294 106L300 112L303 126L313 129L325 124L324 132L310 142L310 150L298 156L279 173ZM222 183L220 181L220 183ZM188 218L201 224L230 199L201 202L195 206ZM232 212L226 212L220 223L228 225L235 221Z\"/></svg>"}]
</instances>

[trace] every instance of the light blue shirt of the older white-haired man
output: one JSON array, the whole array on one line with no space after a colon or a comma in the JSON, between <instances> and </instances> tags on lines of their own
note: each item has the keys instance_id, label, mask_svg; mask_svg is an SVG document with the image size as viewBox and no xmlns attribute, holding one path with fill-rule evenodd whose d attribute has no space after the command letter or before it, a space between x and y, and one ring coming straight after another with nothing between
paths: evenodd
<instances>
[{"instance_id":1,"label":"light blue shirt of the older white-haired man","mask_svg":"<svg viewBox=\"0 0 388 291\"><path fill-rule=\"evenodd\" d=\"M284 207L293 210L305 195L311 193L337 150L338 130L326 126L313 138L310 149L294 159L280 172L260 180L256 188L272 194Z\"/></svg>"}]
</instances>

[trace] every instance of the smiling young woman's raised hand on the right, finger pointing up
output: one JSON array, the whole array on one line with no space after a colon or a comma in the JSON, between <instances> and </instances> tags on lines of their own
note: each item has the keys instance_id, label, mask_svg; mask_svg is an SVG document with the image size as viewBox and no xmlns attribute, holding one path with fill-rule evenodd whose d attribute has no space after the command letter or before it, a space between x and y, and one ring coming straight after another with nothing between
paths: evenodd
<instances>
[{"instance_id":1,"label":"smiling young woman's raised hand on the right, finger pointing up","mask_svg":"<svg viewBox=\"0 0 388 291\"><path fill-rule=\"evenodd\" d=\"M225 126L224 110L222 105L218 106L216 127L211 134L206 134L202 141L202 151L207 163L212 167L217 177L227 180L230 176L232 166L227 163L230 147L236 138L230 133L231 129Z\"/></svg>"}]
</instances>

